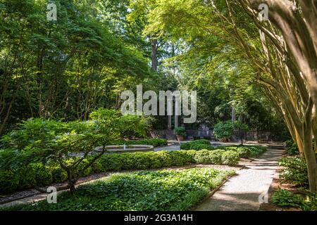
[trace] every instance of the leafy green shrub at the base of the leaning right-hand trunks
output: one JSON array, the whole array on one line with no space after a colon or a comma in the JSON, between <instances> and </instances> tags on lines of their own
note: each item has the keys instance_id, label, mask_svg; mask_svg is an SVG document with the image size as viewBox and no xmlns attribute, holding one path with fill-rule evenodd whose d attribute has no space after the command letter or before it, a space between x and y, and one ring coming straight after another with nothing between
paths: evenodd
<instances>
[{"instance_id":1,"label":"leafy green shrub at the base of the leaning right-hand trunks","mask_svg":"<svg viewBox=\"0 0 317 225\"><path fill-rule=\"evenodd\" d=\"M280 166L285 167L280 173L280 177L286 181L292 182L297 186L309 186L309 179L307 176L307 165L304 158L288 157L280 160Z\"/></svg>"}]
</instances>

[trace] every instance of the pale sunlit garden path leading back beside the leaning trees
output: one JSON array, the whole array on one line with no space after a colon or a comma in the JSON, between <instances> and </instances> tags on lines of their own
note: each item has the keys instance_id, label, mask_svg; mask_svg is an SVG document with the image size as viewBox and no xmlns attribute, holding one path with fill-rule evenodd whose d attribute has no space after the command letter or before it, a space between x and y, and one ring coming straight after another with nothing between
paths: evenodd
<instances>
[{"instance_id":1,"label":"pale sunlit garden path leading back beside the leaning trees","mask_svg":"<svg viewBox=\"0 0 317 225\"><path fill-rule=\"evenodd\" d=\"M265 194L276 175L278 160L283 152L284 150L270 148L261 157L247 162L245 169L238 171L237 176L229 179L211 198L206 199L195 210L259 210L260 200L266 200Z\"/></svg>"}]
</instances>

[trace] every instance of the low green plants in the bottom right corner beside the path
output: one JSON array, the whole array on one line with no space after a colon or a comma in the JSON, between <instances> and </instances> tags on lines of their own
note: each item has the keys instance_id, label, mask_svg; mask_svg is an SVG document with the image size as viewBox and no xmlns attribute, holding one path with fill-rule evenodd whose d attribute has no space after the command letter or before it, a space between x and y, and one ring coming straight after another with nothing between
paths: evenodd
<instances>
[{"instance_id":1,"label":"low green plants in the bottom right corner beside the path","mask_svg":"<svg viewBox=\"0 0 317 225\"><path fill-rule=\"evenodd\" d=\"M315 193L315 195L306 195L306 198L303 198L302 195L297 195L291 193L290 191L280 189L275 191L271 200L272 203L279 206L299 207L304 211L317 210L317 193Z\"/></svg>"}]
</instances>

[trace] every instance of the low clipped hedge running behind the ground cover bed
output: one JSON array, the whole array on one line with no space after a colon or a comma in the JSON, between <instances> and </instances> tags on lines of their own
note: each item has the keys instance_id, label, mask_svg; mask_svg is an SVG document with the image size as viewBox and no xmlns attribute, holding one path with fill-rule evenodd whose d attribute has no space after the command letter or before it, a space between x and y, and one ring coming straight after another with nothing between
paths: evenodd
<instances>
[{"instance_id":1,"label":"low clipped hedge running behind the ground cover bed","mask_svg":"<svg viewBox=\"0 0 317 225\"><path fill-rule=\"evenodd\" d=\"M233 166L237 165L239 159L239 154L231 150L180 150L102 155L92 167L87 169L84 176L99 172L180 167L194 163ZM48 165L35 163L23 168L2 170L0 171L0 193L59 183L66 181L66 177L66 172L56 163Z\"/></svg>"}]
</instances>

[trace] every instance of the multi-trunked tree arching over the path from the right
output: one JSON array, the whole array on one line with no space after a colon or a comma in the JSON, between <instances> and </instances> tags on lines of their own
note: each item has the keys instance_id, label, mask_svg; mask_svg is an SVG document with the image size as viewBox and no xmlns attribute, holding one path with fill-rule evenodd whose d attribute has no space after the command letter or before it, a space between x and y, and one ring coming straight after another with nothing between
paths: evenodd
<instances>
[{"instance_id":1,"label":"multi-trunked tree arching over the path from the right","mask_svg":"<svg viewBox=\"0 0 317 225\"><path fill-rule=\"evenodd\" d=\"M284 5L276 4L280 1L267 2L292 11L293 6L297 6L291 1ZM316 35L309 32L314 28L307 24L304 28L306 32L299 31L299 25L310 23L305 21L313 20L316 13L313 14L313 9L311 15L304 15L302 13L305 10L298 5L297 10L294 10L294 20L290 22L292 26L297 26L291 38L291 30L282 31L281 27L270 21L260 22L258 11L250 6L259 7L254 1L158 0L156 8L149 12L151 23L147 26L147 32L159 34L159 37L173 35L183 39L189 49L209 49L211 61L218 66L231 60L234 68L237 65L249 68L249 75L246 77L263 88L267 98L280 111L293 139L299 144L307 162L310 190L316 191L317 168L312 141L313 138L317 139L313 89L316 86L316 79L313 78L317 65L314 63L316 47L313 45ZM283 23L281 18L278 19L280 10L277 8L273 16L278 23ZM283 13L280 16L287 18ZM307 17L309 19L305 19ZM288 37L284 37L286 33ZM298 48L297 53L294 53L294 47L286 39L297 42L301 49ZM302 51L303 58L300 57ZM300 60L306 60L306 63L299 65Z\"/></svg>"}]
</instances>

